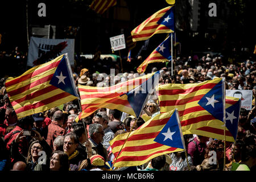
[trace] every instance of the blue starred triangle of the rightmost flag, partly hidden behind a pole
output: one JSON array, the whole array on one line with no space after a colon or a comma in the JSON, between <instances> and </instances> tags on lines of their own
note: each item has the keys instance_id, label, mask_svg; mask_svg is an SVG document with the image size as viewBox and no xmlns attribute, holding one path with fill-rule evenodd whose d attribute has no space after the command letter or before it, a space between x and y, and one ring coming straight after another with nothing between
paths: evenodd
<instances>
[{"instance_id":1,"label":"blue starred triangle of the rightmost flag, partly hidden behind a pole","mask_svg":"<svg viewBox=\"0 0 256 182\"><path fill-rule=\"evenodd\" d=\"M237 101L236 104L226 108L226 128L232 134L234 140L237 138L240 102L241 100Z\"/></svg>"}]
</instances>

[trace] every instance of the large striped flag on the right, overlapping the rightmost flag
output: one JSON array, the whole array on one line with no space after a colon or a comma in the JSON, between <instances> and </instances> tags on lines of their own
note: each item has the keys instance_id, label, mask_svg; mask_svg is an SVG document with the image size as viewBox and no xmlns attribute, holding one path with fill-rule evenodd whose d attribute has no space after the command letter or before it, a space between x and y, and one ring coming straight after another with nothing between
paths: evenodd
<instances>
[{"instance_id":1,"label":"large striped flag on the right, overlapping the rightmost flag","mask_svg":"<svg viewBox=\"0 0 256 182\"><path fill-rule=\"evenodd\" d=\"M159 85L160 113L179 110L183 135L224 139L224 84L221 78L196 84ZM226 128L226 141L234 142Z\"/></svg>"}]
</instances>

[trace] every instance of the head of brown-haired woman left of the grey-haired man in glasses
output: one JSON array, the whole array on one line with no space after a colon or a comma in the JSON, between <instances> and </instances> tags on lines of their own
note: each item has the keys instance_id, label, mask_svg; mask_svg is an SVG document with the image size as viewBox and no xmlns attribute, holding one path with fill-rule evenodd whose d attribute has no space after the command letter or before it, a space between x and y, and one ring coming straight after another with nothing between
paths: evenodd
<instances>
[{"instance_id":1,"label":"head of brown-haired woman left of the grey-haired man in glasses","mask_svg":"<svg viewBox=\"0 0 256 182\"><path fill-rule=\"evenodd\" d=\"M79 139L77 138L75 133L68 133L64 135L64 144L63 144L63 151L68 155L71 156L79 146Z\"/></svg>"}]
</instances>

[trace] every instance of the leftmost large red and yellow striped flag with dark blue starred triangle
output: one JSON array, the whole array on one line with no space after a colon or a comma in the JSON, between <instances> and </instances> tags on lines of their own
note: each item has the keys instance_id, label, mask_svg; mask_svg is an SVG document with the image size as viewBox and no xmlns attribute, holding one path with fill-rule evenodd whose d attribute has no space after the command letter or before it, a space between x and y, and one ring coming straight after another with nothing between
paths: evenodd
<instances>
[{"instance_id":1,"label":"leftmost large red and yellow striped flag with dark blue starred triangle","mask_svg":"<svg viewBox=\"0 0 256 182\"><path fill-rule=\"evenodd\" d=\"M6 91L18 118L40 113L79 97L67 54L6 81Z\"/></svg>"}]
</instances>

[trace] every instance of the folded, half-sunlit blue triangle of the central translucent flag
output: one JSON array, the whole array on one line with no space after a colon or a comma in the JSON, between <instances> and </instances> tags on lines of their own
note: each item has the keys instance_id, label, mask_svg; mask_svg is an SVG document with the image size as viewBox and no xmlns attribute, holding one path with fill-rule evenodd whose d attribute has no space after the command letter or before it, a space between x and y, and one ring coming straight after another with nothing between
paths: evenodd
<instances>
[{"instance_id":1,"label":"folded, half-sunlit blue triangle of the central translucent flag","mask_svg":"<svg viewBox=\"0 0 256 182\"><path fill-rule=\"evenodd\" d=\"M148 96L148 93L150 92L151 89L154 89L152 88L153 85L158 84L159 78L155 78L155 76L159 75L159 73L159 71L155 72L155 74L148 78L147 81L144 81L141 85L126 93L127 100L129 101L131 107L133 108L137 118L139 117L139 114L141 114L141 110L142 107L144 106L144 102ZM157 83L154 84L154 81L157 81Z\"/></svg>"}]
</instances>

